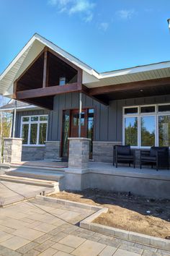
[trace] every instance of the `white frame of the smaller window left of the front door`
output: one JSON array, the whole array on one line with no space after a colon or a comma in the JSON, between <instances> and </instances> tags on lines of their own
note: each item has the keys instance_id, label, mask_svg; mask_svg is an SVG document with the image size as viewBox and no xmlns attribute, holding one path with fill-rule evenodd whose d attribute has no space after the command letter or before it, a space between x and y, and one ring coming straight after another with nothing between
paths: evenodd
<instances>
[{"instance_id":1,"label":"white frame of the smaller window left of the front door","mask_svg":"<svg viewBox=\"0 0 170 256\"><path fill-rule=\"evenodd\" d=\"M38 117L37 121L31 121L32 117ZM27 144L22 144L25 147L45 147L45 144L38 144L39 142L39 135L40 135L40 124L47 124L47 130L46 130L46 138L45 140L47 140L47 136L48 136L48 120L47 121L40 121L40 117L41 116L47 116L48 115L32 115L32 116L22 116L21 118L21 127L20 127L20 137L22 138L22 126L23 124L28 124L28 140L27 140ZM24 117L29 117L29 121L23 121ZM31 128L31 124L37 124L37 143L36 144L30 144L30 128Z\"/></svg>"}]
</instances>

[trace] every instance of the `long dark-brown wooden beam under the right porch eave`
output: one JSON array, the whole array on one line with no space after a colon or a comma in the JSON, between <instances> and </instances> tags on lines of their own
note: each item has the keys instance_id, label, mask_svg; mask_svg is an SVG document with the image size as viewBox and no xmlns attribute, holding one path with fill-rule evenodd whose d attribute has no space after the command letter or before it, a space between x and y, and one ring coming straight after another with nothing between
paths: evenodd
<instances>
[{"instance_id":1,"label":"long dark-brown wooden beam under the right porch eave","mask_svg":"<svg viewBox=\"0 0 170 256\"><path fill-rule=\"evenodd\" d=\"M144 88L158 87L161 85L170 85L170 77L154 80L143 80L138 82L127 82L118 85L107 85L97 88L89 88L89 95L92 96L107 93L115 93L125 90L141 90Z\"/></svg>"}]
</instances>

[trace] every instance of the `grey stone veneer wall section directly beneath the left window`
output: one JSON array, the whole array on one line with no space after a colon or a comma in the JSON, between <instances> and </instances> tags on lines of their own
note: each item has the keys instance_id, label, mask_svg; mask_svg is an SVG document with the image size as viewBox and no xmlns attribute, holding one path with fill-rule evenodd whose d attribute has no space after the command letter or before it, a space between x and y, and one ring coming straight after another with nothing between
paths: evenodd
<instances>
[{"instance_id":1,"label":"grey stone veneer wall section directly beneath the left window","mask_svg":"<svg viewBox=\"0 0 170 256\"><path fill-rule=\"evenodd\" d=\"M43 160L45 147L22 146L22 161Z\"/></svg>"}]
</instances>

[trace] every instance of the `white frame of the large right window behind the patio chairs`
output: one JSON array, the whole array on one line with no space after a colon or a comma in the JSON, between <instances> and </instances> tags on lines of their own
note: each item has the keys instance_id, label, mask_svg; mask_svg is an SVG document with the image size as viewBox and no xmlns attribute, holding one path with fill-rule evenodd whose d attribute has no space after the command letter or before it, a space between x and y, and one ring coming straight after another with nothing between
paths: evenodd
<instances>
[{"instance_id":1,"label":"white frame of the large right window behind the patio chairs","mask_svg":"<svg viewBox=\"0 0 170 256\"><path fill-rule=\"evenodd\" d=\"M158 116L170 116L170 111L160 111L158 112L158 106L170 105L170 103L161 104L148 104L140 106L124 106L122 108L122 143L125 145L125 118L126 117L137 117L138 119L138 145L132 146L132 148L151 148L147 146L141 146L141 127L140 119L141 116L155 116L155 145L158 146ZM141 107L155 106L155 112L151 113L140 113ZM125 108L138 108L138 113L135 114L125 114ZM170 146L169 146L170 148Z\"/></svg>"}]
</instances>

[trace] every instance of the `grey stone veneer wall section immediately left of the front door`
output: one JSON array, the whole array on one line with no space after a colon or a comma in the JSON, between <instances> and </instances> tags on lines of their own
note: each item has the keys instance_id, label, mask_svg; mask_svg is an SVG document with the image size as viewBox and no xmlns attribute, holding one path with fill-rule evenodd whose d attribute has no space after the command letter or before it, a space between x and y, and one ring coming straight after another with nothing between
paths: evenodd
<instances>
[{"instance_id":1,"label":"grey stone veneer wall section immediately left of the front door","mask_svg":"<svg viewBox=\"0 0 170 256\"><path fill-rule=\"evenodd\" d=\"M44 159L57 159L61 154L60 141L45 141Z\"/></svg>"}]
</instances>

